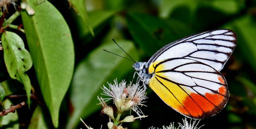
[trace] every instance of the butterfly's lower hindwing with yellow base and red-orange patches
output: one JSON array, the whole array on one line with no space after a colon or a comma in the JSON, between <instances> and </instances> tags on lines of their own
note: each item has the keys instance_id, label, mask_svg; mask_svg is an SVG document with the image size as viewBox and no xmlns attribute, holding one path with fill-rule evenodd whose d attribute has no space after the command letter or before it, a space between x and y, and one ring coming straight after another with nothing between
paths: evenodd
<instances>
[{"instance_id":1,"label":"butterfly's lower hindwing with yellow base and red-orange patches","mask_svg":"<svg viewBox=\"0 0 256 129\"><path fill-rule=\"evenodd\" d=\"M203 119L220 112L229 98L226 80L219 71L199 61L171 58L153 62L149 86L179 113Z\"/></svg>"}]
</instances>

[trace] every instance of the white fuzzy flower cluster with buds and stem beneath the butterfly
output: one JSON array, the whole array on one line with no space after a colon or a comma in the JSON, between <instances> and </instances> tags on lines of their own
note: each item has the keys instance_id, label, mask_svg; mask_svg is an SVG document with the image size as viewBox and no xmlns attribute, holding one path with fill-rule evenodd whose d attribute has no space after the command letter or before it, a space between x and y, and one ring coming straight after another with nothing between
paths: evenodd
<instances>
[{"instance_id":1,"label":"white fuzzy flower cluster with buds and stem beneath the butterfly","mask_svg":"<svg viewBox=\"0 0 256 129\"><path fill-rule=\"evenodd\" d=\"M109 98L99 98L100 104L102 105L102 113L107 114L113 122L108 122L108 128L123 128L120 124L122 122L133 122L137 118L147 117L140 110L140 106L145 106L146 97L146 89L143 85L139 85L139 80L132 84L131 82L126 85L126 81L121 81L121 83L117 82L117 79L114 80L114 84L108 83L109 88L103 85L102 90L105 96ZM106 101L113 100L117 108L117 116L114 117L113 108L106 104ZM124 111L133 110L137 113L138 117L134 117L133 115L126 116L123 120L120 121L120 116Z\"/></svg>"}]
</instances>

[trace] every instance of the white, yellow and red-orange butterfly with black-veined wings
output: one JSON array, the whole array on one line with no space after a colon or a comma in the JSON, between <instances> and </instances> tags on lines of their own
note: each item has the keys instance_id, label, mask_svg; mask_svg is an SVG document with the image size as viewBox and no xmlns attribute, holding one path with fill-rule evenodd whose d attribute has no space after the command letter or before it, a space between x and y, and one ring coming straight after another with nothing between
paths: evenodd
<instances>
[{"instance_id":1,"label":"white, yellow and red-orange butterfly with black-veined wings","mask_svg":"<svg viewBox=\"0 0 256 129\"><path fill-rule=\"evenodd\" d=\"M171 42L148 62L135 62L133 67L144 85L171 108L186 117L204 119L227 104L229 90L219 71L236 43L234 31L210 30Z\"/></svg>"}]
</instances>

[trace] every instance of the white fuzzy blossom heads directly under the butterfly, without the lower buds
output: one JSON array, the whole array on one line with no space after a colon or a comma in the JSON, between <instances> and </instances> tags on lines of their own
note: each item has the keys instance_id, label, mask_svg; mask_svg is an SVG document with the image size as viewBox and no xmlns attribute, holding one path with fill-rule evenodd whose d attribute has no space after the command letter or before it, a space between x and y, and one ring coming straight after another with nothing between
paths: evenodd
<instances>
[{"instance_id":1,"label":"white fuzzy blossom heads directly under the butterfly, without the lower buds","mask_svg":"<svg viewBox=\"0 0 256 129\"><path fill-rule=\"evenodd\" d=\"M110 98L102 99L105 102L113 99L114 104L117 107L119 112L123 112L126 110L133 110L137 113L138 116L142 117L144 114L140 110L140 106L146 106L145 99L146 97L146 89L144 86L139 85L139 81L135 84L131 82L126 85L126 81L121 81L121 83L117 82L117 79L114 80L114 84L108 83L109 88L105 85L101 88L103 90L102 95L106 95Z\"/></svg>"}]
</instances>

